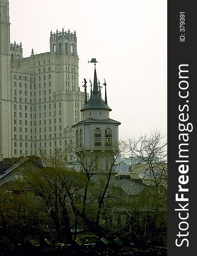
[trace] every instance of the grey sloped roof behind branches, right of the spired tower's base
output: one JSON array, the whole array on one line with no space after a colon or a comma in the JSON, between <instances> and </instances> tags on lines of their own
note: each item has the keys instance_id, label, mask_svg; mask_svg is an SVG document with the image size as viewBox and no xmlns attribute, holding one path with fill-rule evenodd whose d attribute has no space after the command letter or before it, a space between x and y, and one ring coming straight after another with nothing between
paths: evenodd
<instances>
[{"instance_id":1,"label":"grey sloped roof behind branches, right of the spired tower's base","mask_svg":"<svg viewBox=\"0 0 197 256\"><path fill-rule=\"evenodd\" d=\"M116 177L115 187L120 187L127 195L139 195L145 188L146 184L140 183L130 177Z\"/></svg>"}]
</instances>

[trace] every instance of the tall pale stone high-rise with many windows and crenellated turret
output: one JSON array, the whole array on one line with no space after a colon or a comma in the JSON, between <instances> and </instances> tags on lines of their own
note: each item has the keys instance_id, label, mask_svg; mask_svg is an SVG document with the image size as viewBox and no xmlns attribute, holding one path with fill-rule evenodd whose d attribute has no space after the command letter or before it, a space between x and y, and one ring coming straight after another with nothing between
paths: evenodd
<instances>
[{"instance_id":1,"label":"tall pale stone high-rise with many windows and crenellated turret","mask_svg":"<svg viewBox=\"0 0 197 256\"><path fill-rule=\"evenodd\" d=\"M10 44L9 1L0 0L0 158L19 157L74 142L71 128L83 119L74 31L50 35L50 52L23 58Z\"/></svg>"}]
</instances>

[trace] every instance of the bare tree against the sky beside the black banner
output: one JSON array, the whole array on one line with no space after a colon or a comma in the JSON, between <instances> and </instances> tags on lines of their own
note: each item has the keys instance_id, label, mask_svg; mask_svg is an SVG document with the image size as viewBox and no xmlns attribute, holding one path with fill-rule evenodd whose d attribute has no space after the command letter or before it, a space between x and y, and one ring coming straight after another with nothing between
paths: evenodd
<instances>
[{"instance_id":1,"label":"bare tree against the sky beside the black banner","mask_svg":"<svg viewBox=\"0 0 197 256\"><path fill-rule=\"evenodd\" d=\"M143 176L154 184L160 197L167 185L167 142L160 131L151 131L140 138L126 140L128 152Z\"/></svg>"}]
</instances>

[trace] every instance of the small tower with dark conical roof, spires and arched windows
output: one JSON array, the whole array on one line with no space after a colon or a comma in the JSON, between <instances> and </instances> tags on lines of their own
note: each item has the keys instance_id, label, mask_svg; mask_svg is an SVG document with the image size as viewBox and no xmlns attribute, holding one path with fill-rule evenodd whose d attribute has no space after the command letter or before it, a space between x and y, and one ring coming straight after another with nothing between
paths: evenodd
<instances>
[{"instance_id":1,"label":"small tower with dark conical roof, spires and arched windows","mask_svg":"<svg viewBox=\"0 0 197 256\"><path fill-rule=\"evenodd\" d=\"M109 118L111 108L107 104L106 82L104 86L105 101L101 98L95 64L94 86L88 101L85 86L84 106L80 110L83 120L72 125L75 129L76 154L95 173L108 172L118 150L120 122Z\"/></svg>"}]
</instances>

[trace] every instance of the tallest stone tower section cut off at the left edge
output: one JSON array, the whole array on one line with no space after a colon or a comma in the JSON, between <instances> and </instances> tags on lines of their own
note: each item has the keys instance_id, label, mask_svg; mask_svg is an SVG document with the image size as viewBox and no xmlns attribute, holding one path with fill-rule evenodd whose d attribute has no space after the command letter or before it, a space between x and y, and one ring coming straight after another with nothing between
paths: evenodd
<instances>
[{"instance_id":1,"label":"tallest stone tower section cut off at the left edge","mask_svg":"<svg viewBox=\"0 0 197 256\"><path fill-rule=\"evenodd\" d=\"M11 157L9 1L0 0L0 158Z\"/></svg>"}]
</instances>

